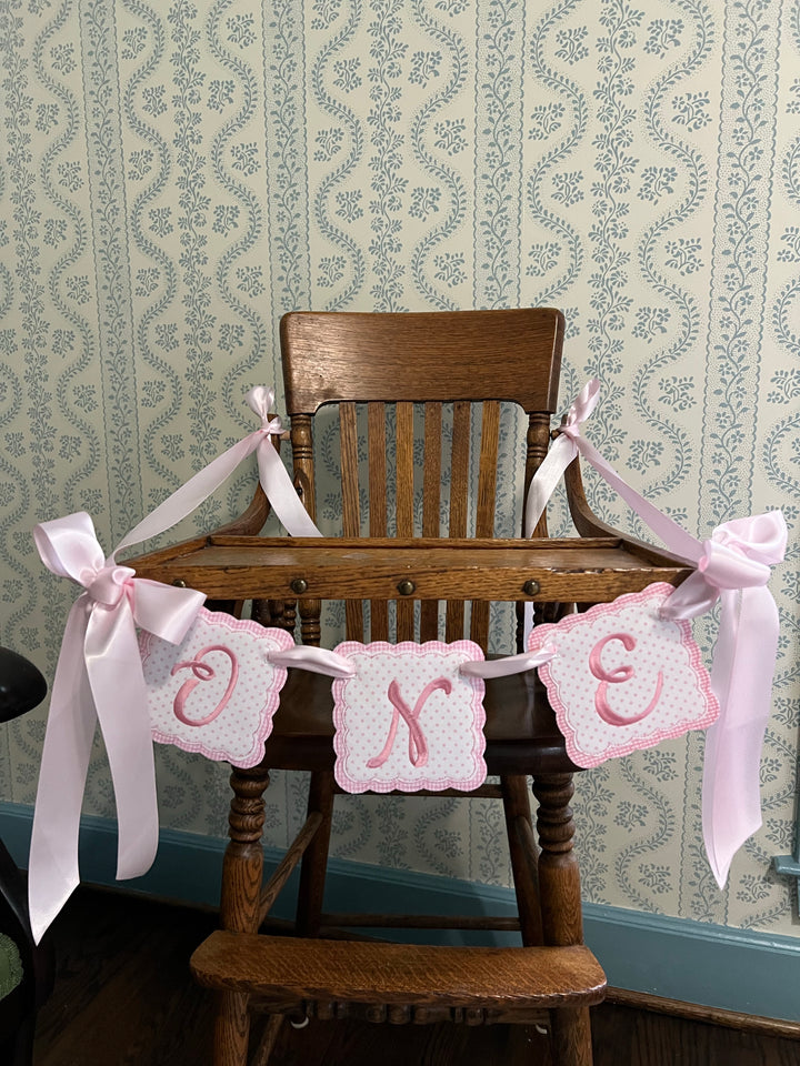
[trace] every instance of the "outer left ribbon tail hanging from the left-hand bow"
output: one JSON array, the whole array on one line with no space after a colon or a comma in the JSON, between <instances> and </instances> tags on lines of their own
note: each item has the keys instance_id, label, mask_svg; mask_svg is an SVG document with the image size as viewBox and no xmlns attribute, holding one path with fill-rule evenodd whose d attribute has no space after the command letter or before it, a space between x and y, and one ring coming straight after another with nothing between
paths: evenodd
<instances>
[{"instance_id":1,"label":"outer left ribbon tail hanging from the left-hand bow","mask_svg":"<svg viewBox=\"0 0 800 1066\"><path fill-rule=\"evenodd\" d=\"M82 661L87 600L78 599L67 620L44 733L28 864L37 944L80 883L78 835L97 723Z\"/></svg>"}]
</instances>

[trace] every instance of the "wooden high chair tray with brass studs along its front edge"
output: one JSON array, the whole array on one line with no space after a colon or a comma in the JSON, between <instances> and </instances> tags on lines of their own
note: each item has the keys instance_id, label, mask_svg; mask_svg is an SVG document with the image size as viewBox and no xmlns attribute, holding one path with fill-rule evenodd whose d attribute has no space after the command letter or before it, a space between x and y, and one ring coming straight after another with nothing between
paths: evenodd
<instances>
[{"instance_id":1,"label":"wooden high chair tray with brass studs along its front edge","mask_svg":"<svg viewBox=\"0 0 800 1066\"><path fill-rule=\"evenodd\" d=\"M643 559L620 541L579 540L416 541L291 537L210 537L199 550L167 559L126 560L139 577L183 582L211 599L398 599L411 579L410 600L533 600L523 585L536 581L538 602L604 603L640 592L652 582L680 584L689 566ZM454 638L450 634L448 640Z\"/></svg>"}]
</instances>

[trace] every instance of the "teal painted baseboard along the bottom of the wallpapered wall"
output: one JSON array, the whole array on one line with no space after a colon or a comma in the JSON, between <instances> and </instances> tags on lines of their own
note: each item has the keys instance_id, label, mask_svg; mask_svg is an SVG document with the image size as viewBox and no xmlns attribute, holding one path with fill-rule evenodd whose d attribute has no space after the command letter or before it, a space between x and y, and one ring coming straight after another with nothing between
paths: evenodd
<instances>
[{"instance_id":1,"label":"teal painted baseboard along the bottom of the wallpapered wall","mask_svg":"<svg viewBox=\"0 0 800 1066\"><path fill-rule=\"evenodd\" d=\"M28 858L32 809L0 803L0 836L16 862ZM80 867L84 882L118 885L187 903L216 906L226 841L162 829L159 854L144 877L114 881L117 829L113 822L81 822ZM278 852L267 852L277 863ZM420 913L499 914L514 911L509 889L331 861L326 905L331 911L401 912L413 896ZM291 917L292 885L279 898L278 917ZM800 937L643 914L587 904L586 941L600 959L609 984L618 988L682 999L727 1010L800 1022ZM393 929L388 935L402 936ZM417 934L409 933L409 939ZM438 935L438 943L467 943L462 933ZM474 934L471 943L517 943L509 934Z\"/></svg>"}]
</instances>

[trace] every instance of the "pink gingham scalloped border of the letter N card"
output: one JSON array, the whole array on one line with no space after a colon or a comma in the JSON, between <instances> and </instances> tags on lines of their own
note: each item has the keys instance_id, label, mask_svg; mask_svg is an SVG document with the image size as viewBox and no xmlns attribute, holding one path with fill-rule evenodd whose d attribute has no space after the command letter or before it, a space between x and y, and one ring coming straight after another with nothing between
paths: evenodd
<instances>
[{"instance_id":1,"label":"pink gingham scalloped border of the letter N card","mask_svg":"<svg viewBox=\"0 0 800 1066\"><path fill-rule=\"evenodd\" d=\"M427 641L424 644L417 644L413 641L403 641L400 644L389 644L387 641L374 641L371 644L361 644L358 641L344 641L338 644L333 651L339 655L348 656L351 652L367 653L368 655L386 654L390 652L411 652L414 655L424 655L427 648L441 651L457 651L464 655L464 660L472 662L482 662L483 651L473 641L453 641L446 644L443 641ZM348 793L357 794L362 792L419 792L422 788L429 788L431 792L443 791L444 788L457 788L459 792L471 792L486 781L487 765L483 760L486 751L486 736L483 735L483 725L486 723L486 708L483 707L483 694L486 683L482 677L462 676L472 688L472 721L474 726L472 757L474 758L474 773L467 778L438 777L427 781L407 781L403 777L394 777L390 781L354 781L344 768L344 757L347 750L348 728L344 721L346 710L352 711L344 698L347 692L348 677L337 677L332 684L333 692L333 751L337 755L333 776L341 788Z\"/></svg>"}]
</instances>

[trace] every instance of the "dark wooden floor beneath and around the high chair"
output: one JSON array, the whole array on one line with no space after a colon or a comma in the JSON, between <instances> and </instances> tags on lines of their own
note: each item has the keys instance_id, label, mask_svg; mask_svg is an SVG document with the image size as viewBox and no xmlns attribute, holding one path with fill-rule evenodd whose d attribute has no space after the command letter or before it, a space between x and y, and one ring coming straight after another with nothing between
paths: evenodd
<instances>
[{"instance_id":1,"label":"dark wooden floor beneath and around the high chair","mask_svg":"<svg viewBox=\"0 0 800 1066\"><path fill-rule=\"evenodd\" d=\"M211 915L79 891L54 926L57 985L34 1066L207 1066L211 996L187 967ZM800 987L800 975L799 975ZM594 1066L800 1066L800 1039L616 1004L593 1012ZM284 1026L271 1066L546 1066L521 1026Z\"/></svg>"}]
</instances>

